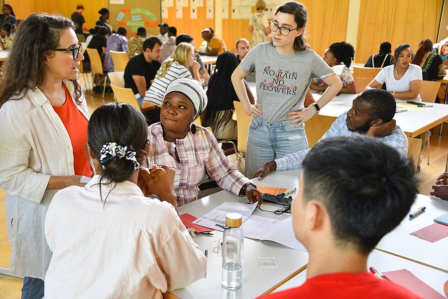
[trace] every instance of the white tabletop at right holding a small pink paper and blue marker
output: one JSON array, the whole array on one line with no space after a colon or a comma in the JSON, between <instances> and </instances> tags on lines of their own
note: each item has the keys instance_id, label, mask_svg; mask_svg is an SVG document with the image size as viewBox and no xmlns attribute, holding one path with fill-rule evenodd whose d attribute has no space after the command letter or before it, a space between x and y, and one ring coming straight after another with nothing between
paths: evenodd
<instances>
[{"instance_id":1,"label":"white tabletop at right holding a small pink paper and blue marker","mask_svg":"<svg viewBox=\"0 0 448 299\"><path fill-rule=\"evenodd\" d=\"M411 212L426 206L425 212L413 220L405 217L393 231L378 243L376 248L405 257L448 273L448 237L434 243L410 233L434 224L434 218L448 212L448 201L419 194Z\"/></svg>"}]
</instances>

